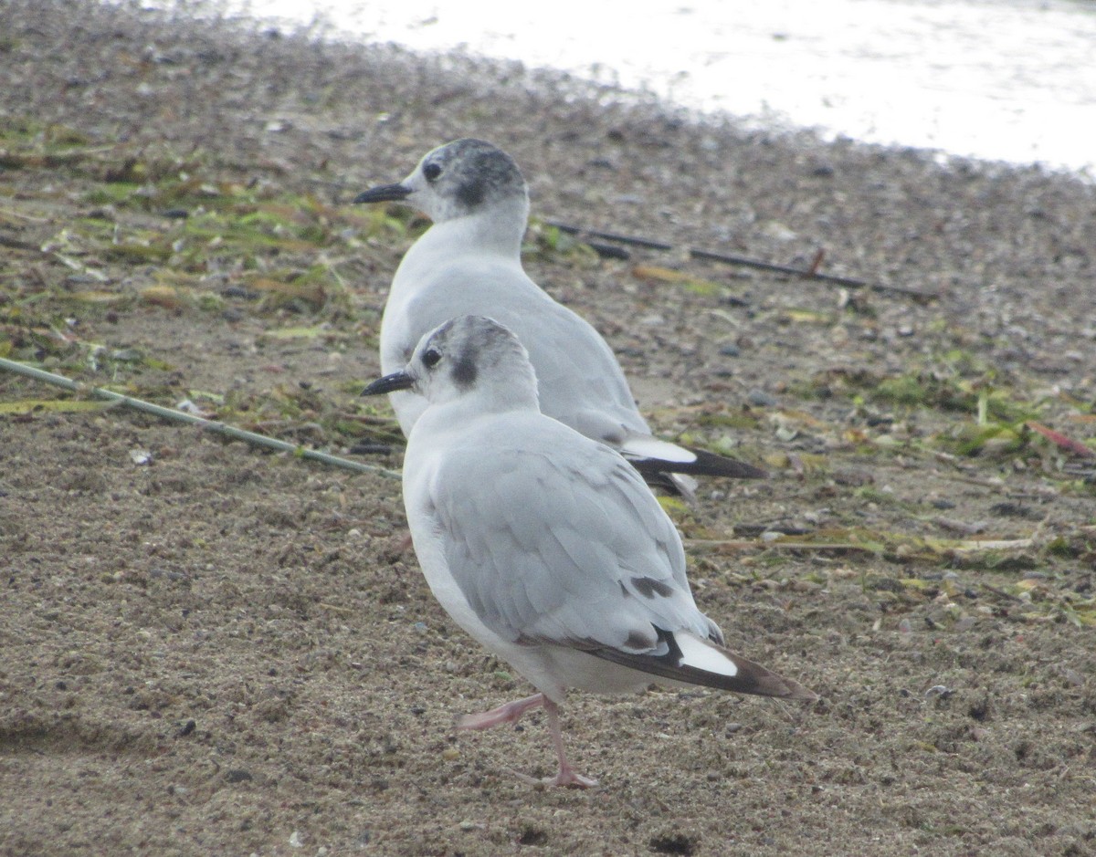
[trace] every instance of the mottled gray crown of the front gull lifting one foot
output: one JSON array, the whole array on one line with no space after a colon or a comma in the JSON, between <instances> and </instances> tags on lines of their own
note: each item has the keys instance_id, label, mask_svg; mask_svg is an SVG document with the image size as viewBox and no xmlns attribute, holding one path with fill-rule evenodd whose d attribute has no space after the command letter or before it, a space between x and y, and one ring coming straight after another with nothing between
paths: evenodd
<instances>
[{"instance_id":1,"label":"mottled gray crown of the front gull lifting one foot","mask_svg":"<svg viewBox=\"0 0 1096 857\"><path fill-rule=\"evenodd\" d=\"M423 344L420 357L436 352L446 358L454 386L467 390L483 373L502 365L516 369L528 365L528 354L510 328L484 316L460 316L446 321ZM434 359L433 363L437 363Z\"/></svg>"}]
</instances>

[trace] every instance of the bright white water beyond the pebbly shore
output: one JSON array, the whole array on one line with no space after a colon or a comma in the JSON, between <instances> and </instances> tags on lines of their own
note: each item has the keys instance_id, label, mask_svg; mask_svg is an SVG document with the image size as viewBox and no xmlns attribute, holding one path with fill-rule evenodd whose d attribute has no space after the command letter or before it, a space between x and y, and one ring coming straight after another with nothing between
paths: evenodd
<instances>
[{"instance_id":1,"label":"bright white water beyond the pebbly shore","mask_svg":"<svg viewBox=\"0 0 1096 857\"><path fill-rule=\"evenodd\" d=\"M227 0L704 111L1096 175L1096 0Z\"/></svg>"}]
</instances>

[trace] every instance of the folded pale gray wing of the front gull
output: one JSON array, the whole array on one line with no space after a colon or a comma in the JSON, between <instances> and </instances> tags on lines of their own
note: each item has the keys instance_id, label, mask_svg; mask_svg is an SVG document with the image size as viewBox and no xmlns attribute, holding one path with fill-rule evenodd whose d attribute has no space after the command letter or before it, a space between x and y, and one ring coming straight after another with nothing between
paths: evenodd
<instances>
[{"instance_id":1,"label":"folded pale gray wing of the front gull","mask_svg":"<svg viewBox=\"0 0 1096 857\"><path fill-rule=\"evenodd\" d=\"M553 421L446 458L433 482L449 571L504 639L647 651L657 628L717 637L673 523L619 455Z\"/></svg>"}]
</instances>

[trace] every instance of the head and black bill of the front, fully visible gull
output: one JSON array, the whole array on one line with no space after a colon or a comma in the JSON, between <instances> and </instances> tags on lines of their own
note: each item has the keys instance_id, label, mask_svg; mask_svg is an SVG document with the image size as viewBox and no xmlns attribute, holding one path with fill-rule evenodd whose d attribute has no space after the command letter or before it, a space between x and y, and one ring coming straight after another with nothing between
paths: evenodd
<instances>
[{"instance_id":1,"label":"head and black bill of the front, fully visible gull","mask_svg":"<svg viewBox=\"0 0 1096 857\"><path fill-rule=\"evenodd\" d=\"M538 408L529 355L504 324L459 316L426 333L411 362L366 387L362 396L410 390L431 404L476 397L482 411Z\"/></svg>"}]
</instances>

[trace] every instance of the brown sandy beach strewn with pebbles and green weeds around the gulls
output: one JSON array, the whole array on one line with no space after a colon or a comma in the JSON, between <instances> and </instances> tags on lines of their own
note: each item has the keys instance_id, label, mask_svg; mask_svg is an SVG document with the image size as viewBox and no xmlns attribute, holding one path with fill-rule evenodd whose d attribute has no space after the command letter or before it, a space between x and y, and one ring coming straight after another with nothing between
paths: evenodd
<instances>
[{"instance_id":1,"label":"brown sandy beach strewn with pebbles and green weeds around the gulls","mask_svg":"<svg viewBox=\"0 0 1096 857\"><path fill-rule=\"evenodd\" d=\"M0 853L1096 854L1093 186L129 4L0 21L0 356L376 468L0 372ZM532 690L406 547L357 393L425 224L350 201L465 136L655 431L770 471L667 509L817 704L575 694L587 791L510 773L552 773L543 715L454 729Z\"/></svg>"}]
</instances>

